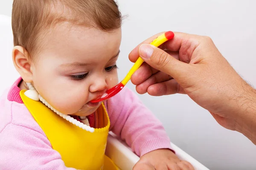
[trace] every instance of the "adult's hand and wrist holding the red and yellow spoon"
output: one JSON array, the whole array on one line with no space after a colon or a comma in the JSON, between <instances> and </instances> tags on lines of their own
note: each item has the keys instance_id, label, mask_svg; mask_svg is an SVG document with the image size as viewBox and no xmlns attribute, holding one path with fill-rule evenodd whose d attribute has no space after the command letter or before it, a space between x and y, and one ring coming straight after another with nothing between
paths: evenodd
<instances>
[{"instance_id":1,"label":"adult's hand and wrist holding the red and yellow spoon","mask_svg":"<svg viewBox=\"0 0 256 170\"><path fill-rule=\"evenodd\" d=\"M149 45L160 34L129 54L132 62L138 56L145 61L131 77L137 92L187 94L220 125L243 133L256 144L256 90L237 74L209 37L176 32L159 48Z\"/></svg>"}]
</instances>

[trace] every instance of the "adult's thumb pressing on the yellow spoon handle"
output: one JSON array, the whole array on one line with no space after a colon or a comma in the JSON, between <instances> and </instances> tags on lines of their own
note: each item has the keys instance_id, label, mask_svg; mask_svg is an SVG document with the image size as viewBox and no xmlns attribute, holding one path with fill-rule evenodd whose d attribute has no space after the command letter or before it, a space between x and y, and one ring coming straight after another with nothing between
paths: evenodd
<instances>
[{"instance_id":1,"label":"adult's thumb pressing on the yellow spoon handle","mask_svg":"<svg viewBox=\"0 0 256 170\"><path fill-rule=\"evenodd\" d=\"M188 65L175 59L160 48L150 44L143 44L139 48L140 57L153 68L162 71L174 79L181 78L188 70Z\"/></svg>"}]
</instances>

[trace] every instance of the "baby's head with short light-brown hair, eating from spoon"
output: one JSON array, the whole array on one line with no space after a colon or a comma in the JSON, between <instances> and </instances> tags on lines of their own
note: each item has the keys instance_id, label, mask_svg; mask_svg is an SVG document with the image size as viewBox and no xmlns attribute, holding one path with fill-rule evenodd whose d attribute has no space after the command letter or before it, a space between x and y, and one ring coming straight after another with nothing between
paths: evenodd
<instances>
[{"instance_id":1,"label":"baby's head with short light-brown hair, eating from spoon","mask_svg":"<svg viewBox=\"0 0 256 170\"><path fill-rule=\"evenodd\" d=\"M15 68L56 110L87 116L118 83L121 23L114 0L14 0Z\"/></svg>"}]
</instances>

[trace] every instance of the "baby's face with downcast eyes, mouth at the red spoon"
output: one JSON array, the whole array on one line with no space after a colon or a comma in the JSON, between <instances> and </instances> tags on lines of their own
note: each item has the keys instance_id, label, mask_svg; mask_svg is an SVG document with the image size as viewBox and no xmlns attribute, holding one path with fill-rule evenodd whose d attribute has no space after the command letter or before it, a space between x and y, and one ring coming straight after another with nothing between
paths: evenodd
<instances>
[{"instance_id":1,"label":"baby's face with downcast eyes, mouth at the red spoon","mask_svg":"<svg viewBox=\"0 0 256 170\"><path fill-rule=\"evenodd\" d=\"M118 83L120 43L121 29L56 26L44 37L43 50L31 64L36 90L61 113L90 115L101 104L90 101Z\"/></svg>"}]
</instances>

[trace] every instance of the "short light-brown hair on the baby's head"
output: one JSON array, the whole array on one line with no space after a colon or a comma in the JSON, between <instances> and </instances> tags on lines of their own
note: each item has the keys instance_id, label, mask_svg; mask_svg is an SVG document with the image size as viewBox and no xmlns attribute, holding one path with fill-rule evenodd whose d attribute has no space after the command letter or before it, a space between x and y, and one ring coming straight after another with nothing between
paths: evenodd
<instances>
[{"instance_id":1,"label":"short light-brown hair on the baby's head","mask_svg":"<svg viewBox=\"0 0 256 170\"><path fill-rule=\"evenodd\" d=\"M40 51L45 32L57 23L113 31L121 27L122 16L114 0L14 0L12 31L14 45L30 56Z\"/></svg>"}]
</instances>

